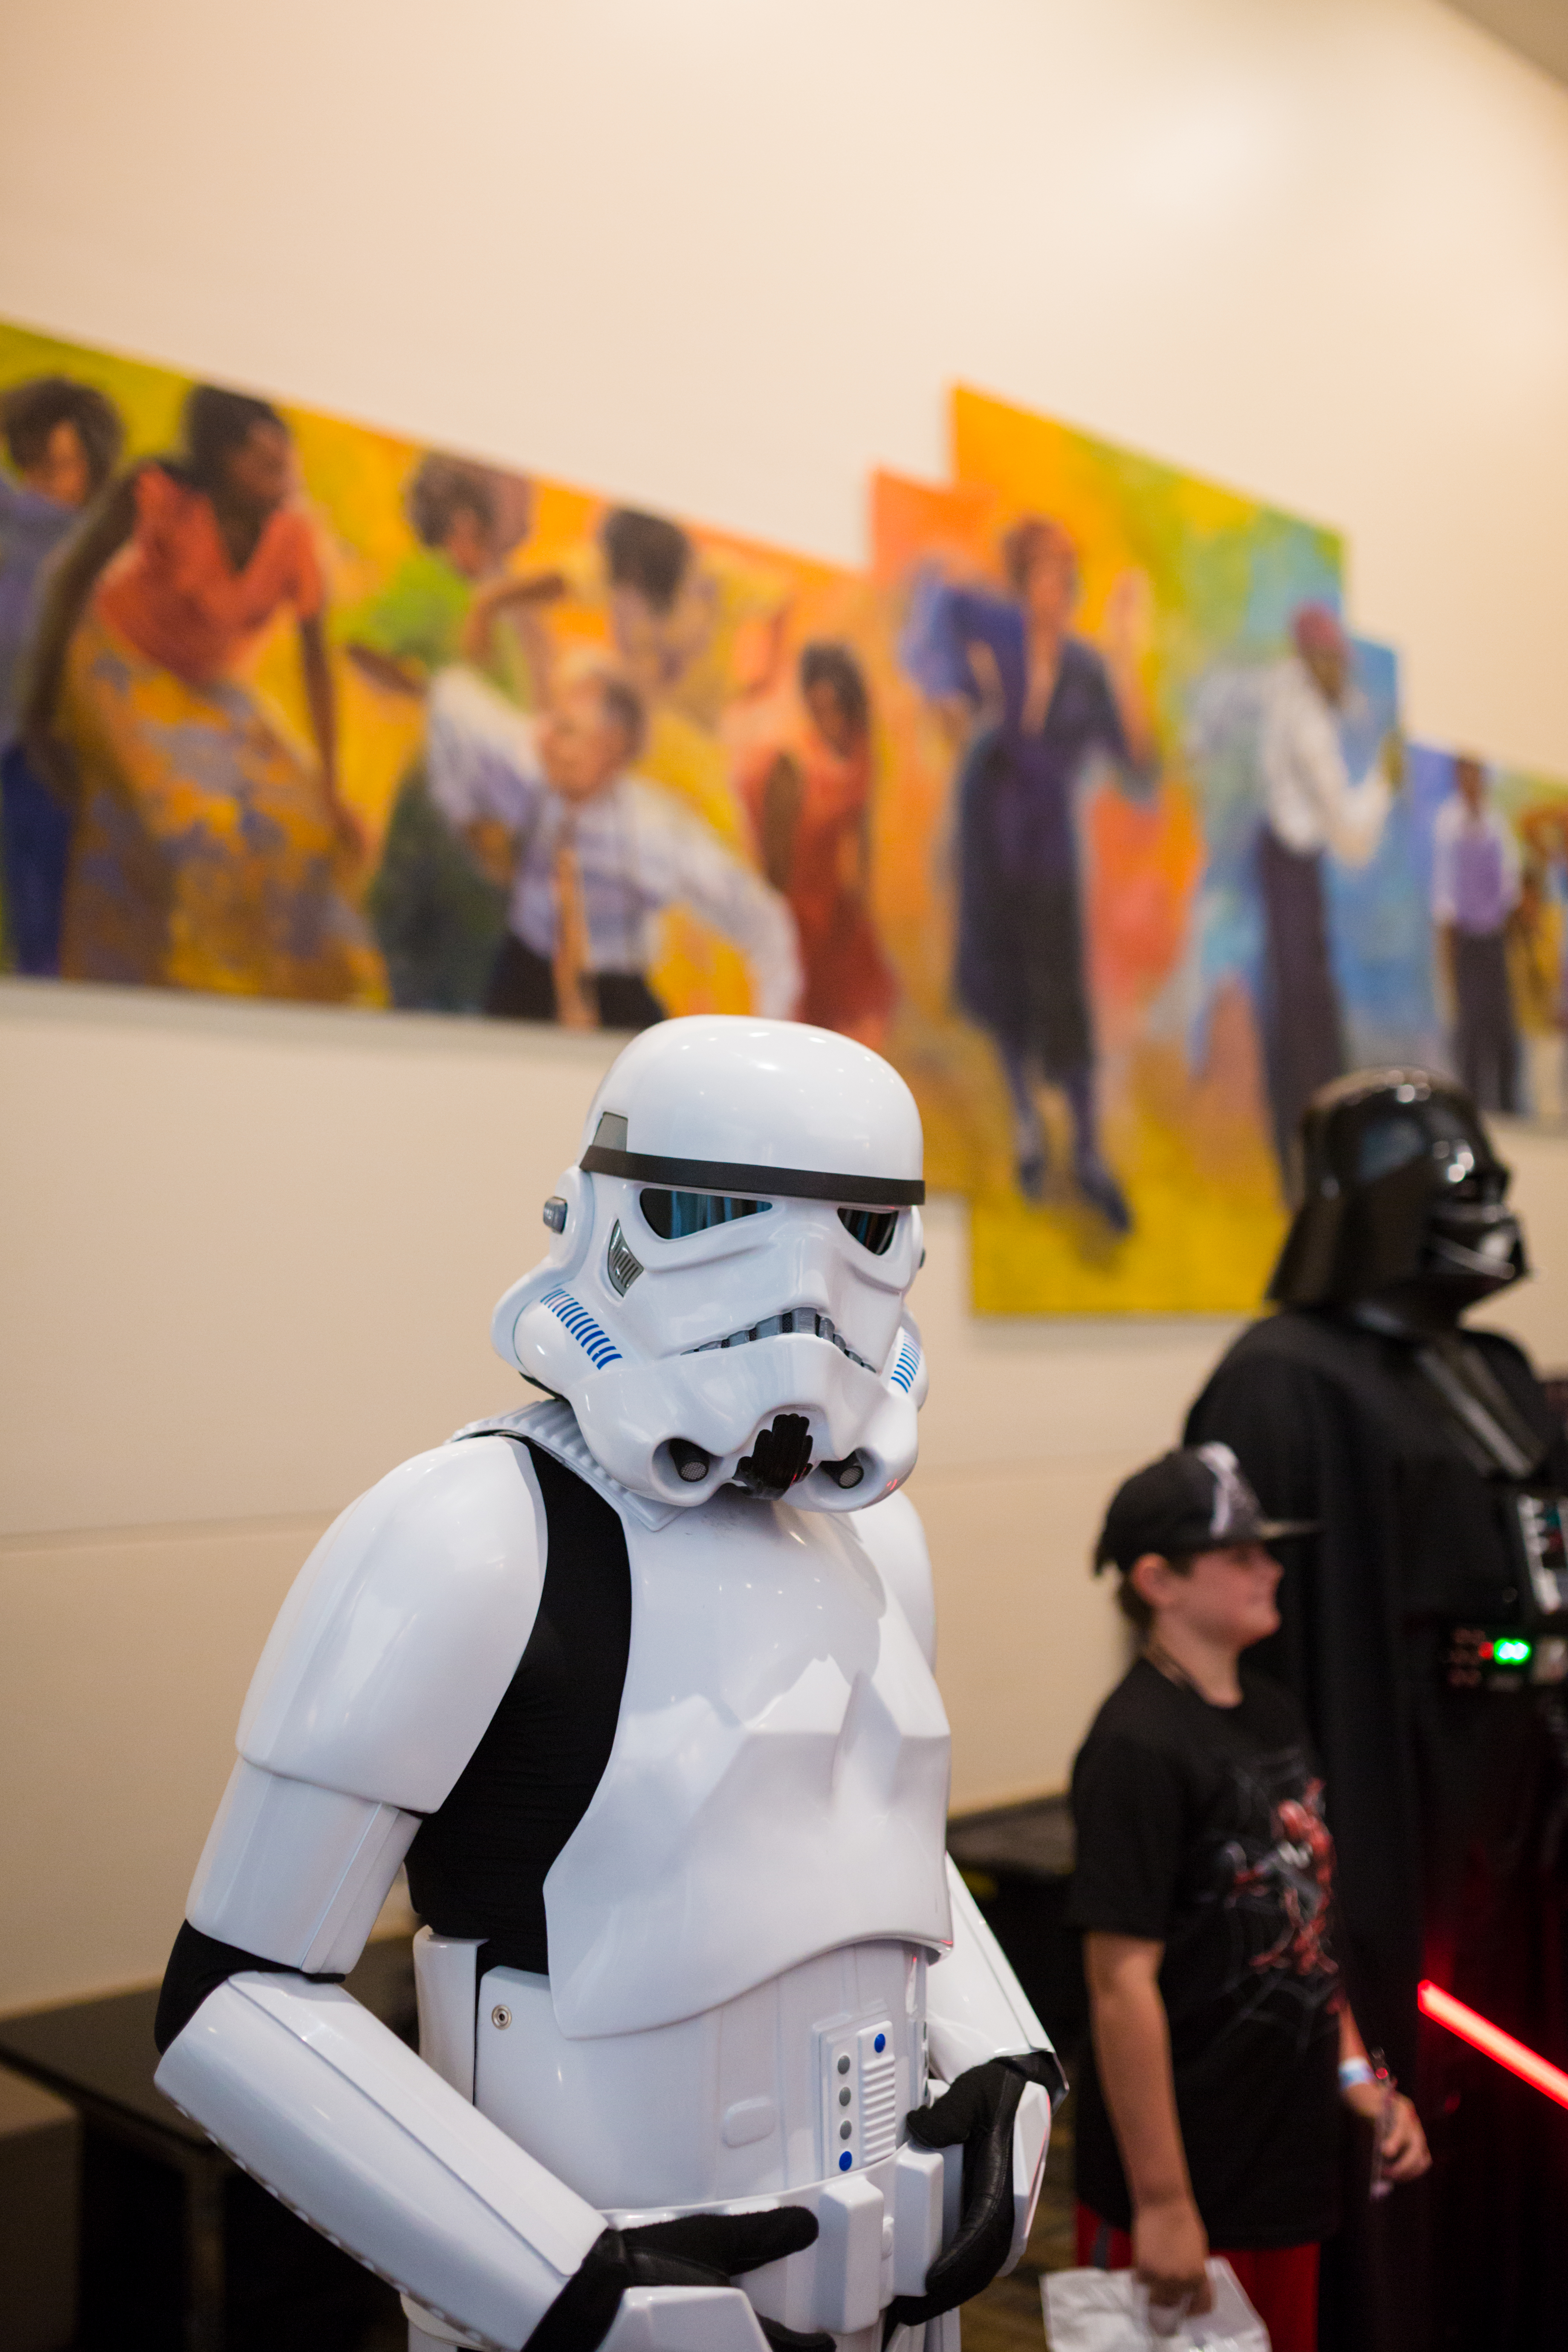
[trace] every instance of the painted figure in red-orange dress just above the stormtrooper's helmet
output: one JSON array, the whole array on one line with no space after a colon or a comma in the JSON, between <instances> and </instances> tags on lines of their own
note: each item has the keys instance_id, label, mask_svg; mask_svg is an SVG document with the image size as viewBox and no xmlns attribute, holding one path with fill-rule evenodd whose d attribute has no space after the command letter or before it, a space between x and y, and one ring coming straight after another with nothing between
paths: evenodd
<instances>
[{"instance_id":1,"label":"painted figure in red-orange dress just above the stormtrooper's helmet","mask_svg":"<svg viewBox=\"0 0 1568 2352\"><path fill-rule=\"evenodd\" d=\"M898 983L870 910L870 696L846 644L809 644L797 677L804 724L752 762L741 797L762 870L799 929L799 1018L879 1049Z\"/></svg>"}]
</instances>

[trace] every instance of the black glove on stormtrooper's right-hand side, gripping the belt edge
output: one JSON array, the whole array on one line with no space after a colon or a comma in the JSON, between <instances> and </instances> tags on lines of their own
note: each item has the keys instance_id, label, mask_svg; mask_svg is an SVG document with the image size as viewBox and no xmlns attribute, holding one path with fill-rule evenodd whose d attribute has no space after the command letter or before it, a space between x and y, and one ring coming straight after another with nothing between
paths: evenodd
<instances>
[{"instance_id":1,"label":"black glove on stormtrooper's right-hand side, gripping the belt edge","mask_svg":"<svg viewBox=\"0 0 1568 2352\"><path fill-rule=\"evenodd\" d=\"M896 2296L889 2305L889 2333L896 2326L922 2326L940 2312L969 2303L997 2277L1013 2244L1013 2117L1025 2082L1063 2093L1063 2070L1051 2051L1027 2058L987 2058L971 2065L933 2107L914 2107L910 2138L917 2147L964 2147L964 2209L952 2246L943 2246L926 2272L924 2296ZM884 2338L886 2340L886 2338Z\"/></svg>"}]
</instances>

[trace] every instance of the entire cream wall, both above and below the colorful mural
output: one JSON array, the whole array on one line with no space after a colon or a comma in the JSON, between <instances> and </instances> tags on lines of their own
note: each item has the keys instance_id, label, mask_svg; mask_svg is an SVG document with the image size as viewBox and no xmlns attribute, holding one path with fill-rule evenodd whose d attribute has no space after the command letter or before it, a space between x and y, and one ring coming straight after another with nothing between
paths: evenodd
<instances>
[{"instance_id":1,"label":"entire cream wall, both above and below the colorful mural","mask_svg":"<svg viewBox=\"0 0 1568 2352\"><path fill-rule=\"evenodd\" d=\"M56 0L0 315L839 560L954 379L1335 522L1418 731L1568 771L1568 96L1436 0ZM155 1973L324 1519L510 1397L604 1047L0 988L0 2004ZM1568 1359L1568 1148L1509 1138ZM978 1327L917 1498L959 1802L1060 1780L1084 1573L1215 1322Z\"/></svg>"}]
</instances>

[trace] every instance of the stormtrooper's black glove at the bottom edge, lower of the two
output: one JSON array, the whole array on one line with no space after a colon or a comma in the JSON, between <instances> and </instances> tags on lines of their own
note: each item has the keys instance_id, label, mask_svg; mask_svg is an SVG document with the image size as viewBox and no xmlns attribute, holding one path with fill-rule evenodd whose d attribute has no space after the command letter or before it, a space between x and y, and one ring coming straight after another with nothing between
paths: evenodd
<instances>
[{"instance_id":1,"label":"stormtrooper's black glove at the bottom edge, lower of the two","mask_svg":"<svg viewBox=\"0 0 1568 2352\"><path fill-rule=\"evenodd\" d=\"M771 2213L686 2213L649 2220L639 2230L604 2230L529 2336L527 2352L595 2352L609 2336L628 2286L729 2286L743 2270L762 2270L785 2253L816 2244L816 2213L776 2206ZM757 2314L778 2352L832 2352L832 2336L802 2336Z\"/></svg>"}]
</instances>

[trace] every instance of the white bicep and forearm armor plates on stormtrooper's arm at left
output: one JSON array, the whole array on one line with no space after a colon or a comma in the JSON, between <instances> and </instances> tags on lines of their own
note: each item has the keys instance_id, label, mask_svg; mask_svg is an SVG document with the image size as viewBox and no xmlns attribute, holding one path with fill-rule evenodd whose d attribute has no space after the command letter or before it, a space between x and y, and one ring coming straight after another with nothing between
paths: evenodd
<instances>
[{"instance_id":1,"label":"white bicep and forearm armor plates on stormtrooper's arm at left","mask_svg":"<svg viewBox=\"0 0 1568 2352\"><path fill-rule=\"evenodd\" d=\"M393 2286L510 2352L604 2218L341 1985L313 1980L357 1959L416 1828L397 1806L235 1766L190 1926L240 1966L179 2030L158 2089Z\"/></svg>"}]
</instances>

